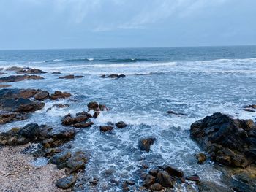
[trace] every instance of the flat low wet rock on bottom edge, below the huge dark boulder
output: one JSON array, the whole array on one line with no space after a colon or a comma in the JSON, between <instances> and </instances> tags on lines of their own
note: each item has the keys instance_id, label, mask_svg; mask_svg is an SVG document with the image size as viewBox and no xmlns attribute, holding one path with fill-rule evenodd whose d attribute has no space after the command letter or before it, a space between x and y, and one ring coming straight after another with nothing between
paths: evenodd
<instances>
[{"instance_id":1,"label":"flat low wet rock on bottom edge, below the huge dark boulder","mask_svg":"<svg viewBox=\"0 0 256 192\"><path fill-rule=\"evenodd\" d=\"M197 185L200 192L233 192L231 188L219 185L214 181L200 181Z\"/></svg>"}]
</instances>

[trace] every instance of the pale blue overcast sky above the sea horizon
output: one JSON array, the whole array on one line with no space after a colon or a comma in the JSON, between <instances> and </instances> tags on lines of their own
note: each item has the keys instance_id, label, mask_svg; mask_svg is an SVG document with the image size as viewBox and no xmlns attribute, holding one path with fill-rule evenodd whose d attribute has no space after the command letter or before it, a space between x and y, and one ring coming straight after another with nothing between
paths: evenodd
<instances>
[{"instance_id":1,"label":"pale blue overcast sky above the sea horizon","mask_svg":"<svg viewBox=\"0 0 256 192\"><path fill-rule=\"evenodd\" d=\"M256 45L256 0L0 0L0 49Z\"/></svg>"}]
</instances>

